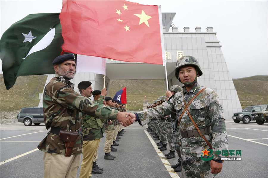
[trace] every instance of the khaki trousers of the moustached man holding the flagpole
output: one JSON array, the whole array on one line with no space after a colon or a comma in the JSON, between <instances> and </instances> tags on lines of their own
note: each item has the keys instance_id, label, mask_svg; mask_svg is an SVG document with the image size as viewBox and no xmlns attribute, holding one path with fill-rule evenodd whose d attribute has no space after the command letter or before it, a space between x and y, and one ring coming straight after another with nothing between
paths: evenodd
<instances>
[{"instance_id":1,"label":"khaki trousers of the moustached man holding the flagpole","mask_svg":"<svg viewBox=\"0 0 268 178\"><path fill-rule=\"evenodd\" d=\"M93 165L93 158L98 148L99 141L100 139L83 141L82 146L83 159L81 163L79 178L88 178L92 176L91 171Z\"/></svg>"}]
</instances>

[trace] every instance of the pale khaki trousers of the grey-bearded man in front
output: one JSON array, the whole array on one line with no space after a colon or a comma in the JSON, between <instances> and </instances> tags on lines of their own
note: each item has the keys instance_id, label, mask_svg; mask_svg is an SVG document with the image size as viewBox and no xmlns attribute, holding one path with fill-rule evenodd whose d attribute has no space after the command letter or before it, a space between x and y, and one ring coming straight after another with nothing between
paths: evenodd
<instances>
[{"instance_id":1,"label":"pale khaki trousers of the grey-bearded man in front","mask_svg":"<svg viewBox=\"0 0 268 178\"><path fill-rule=\"evenodd\" d=\"M44 177L75 177L79 168L81 155L57 155L44 152Z\"/></svg>"}]
</instances>

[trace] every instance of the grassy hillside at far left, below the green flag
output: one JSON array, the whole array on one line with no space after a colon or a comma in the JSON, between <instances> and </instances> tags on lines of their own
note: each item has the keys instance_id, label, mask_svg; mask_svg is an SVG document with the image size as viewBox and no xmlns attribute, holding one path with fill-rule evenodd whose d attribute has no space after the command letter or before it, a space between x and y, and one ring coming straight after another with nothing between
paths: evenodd
<instances>
[{"instance_id":1,"label":"grassy hillside at far left, below the green flag","mask_svg":"<svg viewBox=\"0 0 268 178\"><path fill-rule=\"evenodd\" d=\"M37 107L43 92L46 75L18 77L15 85L9 90L4 85L3 74L0 76L1 111L20 111L22 107Z\"/></svg>"}]
</instances>

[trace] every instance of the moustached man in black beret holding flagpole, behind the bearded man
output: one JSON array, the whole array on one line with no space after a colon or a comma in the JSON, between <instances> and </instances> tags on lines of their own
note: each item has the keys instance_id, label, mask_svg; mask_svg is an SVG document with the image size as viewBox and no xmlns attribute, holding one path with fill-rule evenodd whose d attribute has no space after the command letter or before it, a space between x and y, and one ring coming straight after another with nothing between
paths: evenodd
<instances>
[{"instance_id":1,"label":"moustached man in black beret holding flagpole, behind the bearded man","mask_svg":"<svg viewBox=\"0 0 268 178\"><path fill-rule=\"evenodd\" d=\"M91 82L82 81L77 85L79 92L82 96L87 98L91 97L93 90L91 87ZM99 96L99 99L94 101L94 103L102 104L104 97L106 96L107 91L103 89ZM79 178L88 178L91 177L91 171L93 167L94 155L98 149L99 142L103 137L102 132L102 121L90 115L82 113L82 135L83 135L83 145L82 153L83 159L80 169ZM94 165L94 168L96 166ZM94 169L94 174L102 174L102 170Z\"/></svg>"}]
</instances>

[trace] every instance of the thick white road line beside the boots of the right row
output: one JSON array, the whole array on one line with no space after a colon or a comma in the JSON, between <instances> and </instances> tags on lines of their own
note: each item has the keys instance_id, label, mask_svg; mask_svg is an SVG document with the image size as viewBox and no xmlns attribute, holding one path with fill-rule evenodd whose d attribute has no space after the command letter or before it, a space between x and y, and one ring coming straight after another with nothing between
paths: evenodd
<instances>
[{"instance_id":1,"label":"thick white road line beside the boots of the right row","mask_svg":"<svg viewBox=\"0 0 268 178\"><path fill-rule=\"evenodd\" d=\"M164 154L158 149L158 146L155 144L155 141L152 139L152 137L149 135L149 133L144 130L145 134L148 136L150 142L152 143L153 147L155 148L155 151L157 152L158 156L161 158L162 163L166 167L166 170L169 172L169 175L172 178L180 178L179 175L174 171L174 169L171 168L171 165L168 160L166 160Z\"/></svg>"}]
</instances>

